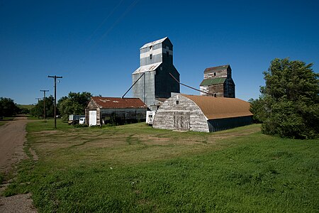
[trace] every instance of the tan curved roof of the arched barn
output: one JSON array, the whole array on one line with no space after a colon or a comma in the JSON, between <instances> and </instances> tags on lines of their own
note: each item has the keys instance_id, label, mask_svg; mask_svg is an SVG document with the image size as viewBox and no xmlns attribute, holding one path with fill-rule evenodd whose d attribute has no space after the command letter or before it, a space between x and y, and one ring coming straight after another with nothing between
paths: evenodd
<instances>
[{"instance_id":1,"label":"tan curved roof of the arched barn","mask_svg":"<svg viewBox=\"0 0 319 213\"><path fill-rule=\"evenodd\" d=\"M250 112L250 103L242 99L211 97L200 95L181 94L191 99L207 119L226 119L241 116L252 116Z\"/></svg>"}]
</instances>

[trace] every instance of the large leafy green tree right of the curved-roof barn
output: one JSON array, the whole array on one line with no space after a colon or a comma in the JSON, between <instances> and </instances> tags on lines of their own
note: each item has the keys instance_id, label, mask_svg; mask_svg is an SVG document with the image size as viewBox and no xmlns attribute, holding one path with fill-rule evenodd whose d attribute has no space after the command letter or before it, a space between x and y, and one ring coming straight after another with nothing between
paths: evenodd
<instances>
[{"instance_id":1,"label":"large leafy green tree right of the curved-roof barn","mask_svg":"<svg viewBox=\"0 0 319 213\"><path fill-rule=\"evenodd\" d=\"M264 72L262 97L252 102L262 131L289 138L314 138L319 133L319 80L312 64L274 59Z\"/></svg>"}]
</instances>

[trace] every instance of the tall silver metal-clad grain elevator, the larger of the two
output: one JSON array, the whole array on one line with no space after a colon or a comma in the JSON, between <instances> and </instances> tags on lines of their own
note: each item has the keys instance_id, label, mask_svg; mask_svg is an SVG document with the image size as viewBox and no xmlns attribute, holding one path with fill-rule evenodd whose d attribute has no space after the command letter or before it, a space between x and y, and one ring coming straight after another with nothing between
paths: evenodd
<instances>
[{"instance_id":1,"label":"tall silver metal-clad grain elevator, the larger of the two","mask_svg":"<svg viewBox=\"0 0 319 213\"><path fill-rule=\"evenodd\" d=\"M140 48L140 67L132 74L133 97L140 98L150 109L157 109L157 100L179 92L179 72L173 65L173 45L165 37Z\"/></svg>"}]
</instances>

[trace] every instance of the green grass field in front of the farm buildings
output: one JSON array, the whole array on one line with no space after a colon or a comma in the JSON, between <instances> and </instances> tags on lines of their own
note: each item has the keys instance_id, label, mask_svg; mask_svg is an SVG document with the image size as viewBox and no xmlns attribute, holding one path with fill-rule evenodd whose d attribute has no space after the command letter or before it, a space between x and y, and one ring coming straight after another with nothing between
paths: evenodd
<instances>
[{"instance_id":1,"label":"green grass field in front of the farm buildings","mask_svg":"<svg viewBox=\"0 0 319 213\"><path fill-rule=\"evenodd\" d=\"M40 212L319 211L318 139L265 136L259 125L217 133L53 125L28 124L30 159L5 192L32 192Z\"/></svg>"}]
</instances>

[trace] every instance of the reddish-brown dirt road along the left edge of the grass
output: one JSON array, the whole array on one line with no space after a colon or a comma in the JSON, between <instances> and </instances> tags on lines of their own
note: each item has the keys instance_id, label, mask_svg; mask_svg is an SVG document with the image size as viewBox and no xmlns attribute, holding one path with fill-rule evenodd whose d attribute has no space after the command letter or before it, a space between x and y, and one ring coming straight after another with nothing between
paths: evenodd
<instances>
[{"instance_id":1,"label":"reddish-brown dirt road along the left edge of the grass","mask_svg":"<svg viewBox=\"0 0 319 213\"><path fill-rule=\"evenodd\" d=\"M9 173L19 160L26 158L23 143L26 140L25 117L18 117L14 121L0 127L0 172ZM6 183L1 185L1 191ZM0 197L0 212L37 212L32 205L30 194Z\"/></svg>"}]
</instances>

